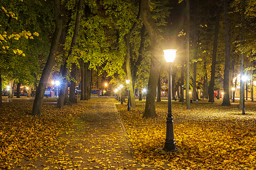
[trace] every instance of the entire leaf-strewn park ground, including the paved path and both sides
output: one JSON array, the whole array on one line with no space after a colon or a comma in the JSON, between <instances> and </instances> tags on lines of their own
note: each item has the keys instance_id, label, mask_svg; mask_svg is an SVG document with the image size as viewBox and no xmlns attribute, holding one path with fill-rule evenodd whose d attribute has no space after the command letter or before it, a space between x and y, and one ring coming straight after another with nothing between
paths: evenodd
<instances>
[{"instance_id":1,"label":"entire leaf-strewn park ground, including the paved path and both sides","mask_svg":"<svg viewBox=\"0 0 256 170\"><path fill-rule=\"evenodd\" d=\"M144 101L137 101L137 109L130 112L127 103L117 104L137 162L124 157L130 150L115 121L117 115L110 113L114 103L114 99L91 99L60 110L56 108L56 99L48 98L44 100L42 117L28 115L32 100L3 103L0 169L256 167L255 102L246 101L246 115L242 115L238 101L231 107L221 107L221 100L214 104L200 100L189 111L173 101L175 140L181 152L167 154L159 150L166 136L167 100L156 103L159 117L155 119L142 118ZM102 111L96 109L100 105Z\"/></svg>"}]
</instances>

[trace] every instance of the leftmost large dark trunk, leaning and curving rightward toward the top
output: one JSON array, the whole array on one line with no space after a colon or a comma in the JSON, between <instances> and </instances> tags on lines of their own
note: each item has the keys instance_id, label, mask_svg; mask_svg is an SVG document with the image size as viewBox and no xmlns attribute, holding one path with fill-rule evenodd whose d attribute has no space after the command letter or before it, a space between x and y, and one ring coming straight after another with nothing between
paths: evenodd
<instances>
[{"instance_id":1,"label":"leftmost large dark trunk, leaning and curving rightward toward the top","mask_svg":"<svg viewBox=\"0 0 256 170\"><path fill-rule=\"evenodd\" d=\"M34 105L32 109L33 115L41 115L42 114L42 104L44 98L44 91L46 91L46 85L48 82L49 74L51 73L53 64L55 63L56 51L58 48L58 42L61 35L62 29L62 17L60 12L60 0L54 1L55 8L55 31L53 33L51 48L49 52L49 56L46 62L46 66L44 67L42 76L39 81L38 89L36 90L36 96L34 100Z\"/></svg>"}]
</instances>

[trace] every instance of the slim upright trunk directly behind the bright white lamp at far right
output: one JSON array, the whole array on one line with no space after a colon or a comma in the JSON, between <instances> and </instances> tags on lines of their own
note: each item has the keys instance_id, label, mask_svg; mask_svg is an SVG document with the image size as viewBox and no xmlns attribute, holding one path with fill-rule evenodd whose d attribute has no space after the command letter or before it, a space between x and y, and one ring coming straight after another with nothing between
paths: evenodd
<instances>
[{"instance_id":1,"label":"slim upright trunk directly behind the bright white lamp at far right","mask_svg":"<svg viewBox=\"0 0 256 170\"><path fill-rule=\"evenodd\" d=\"M242 27L241 27L241 41L242 41L242 48L245 45L245 0L242 0ZM241 63L240 63L240 74L241 77L244 75L244 67L245 67L245 50L242 49L241 51ZM239 109L243 108L243 97L245 96L245 82L240 79L240 104Z\"/></svg>"}]
</instances>

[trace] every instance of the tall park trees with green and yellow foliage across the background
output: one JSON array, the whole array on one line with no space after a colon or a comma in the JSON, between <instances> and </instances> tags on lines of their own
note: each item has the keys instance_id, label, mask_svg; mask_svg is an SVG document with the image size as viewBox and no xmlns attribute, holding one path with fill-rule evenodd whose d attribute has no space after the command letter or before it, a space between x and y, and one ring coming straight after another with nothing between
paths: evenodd
<instances>
[{"instance_id":1,"label":"tall park trees with green and yellow foliage across the background","mask_svg":"<svg viewBox=\"0 0 256 170\"><path fill-rule=\"evenodd\" d=\"M160 78L167 75L162 50L168 48L177 49L172 88L179 90L185 82L185 88L193 89L193 100L200 86L213 102L213 91L223 86L222 105L230 105L233 78L246 71L254 75L252 0L1 0L1 5L1 87L7 82L34 84L32 114L42 112L49 79L61 80L57 107L63 108L76 101L78 84L81 100L88 100L96 77L106 74L115 84L131 80L133 108L134 88L142 91L148 82L143 117L157 117L156 87L160 89Z\"/></svg>"}]
</instances>

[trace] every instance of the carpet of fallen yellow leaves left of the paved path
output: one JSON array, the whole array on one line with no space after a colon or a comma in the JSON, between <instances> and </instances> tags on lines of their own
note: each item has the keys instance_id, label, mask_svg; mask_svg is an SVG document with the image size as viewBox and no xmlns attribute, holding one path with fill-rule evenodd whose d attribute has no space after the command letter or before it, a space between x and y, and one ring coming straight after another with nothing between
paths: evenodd
<instances>
[{"instance_id":1,"label":"carpet of fallen yellow leaves left of the paved path","mask_svg":"<svg viewBox=\"0 0 256 170\"><path fill-rule=\"evenodd\" d=\"M16 99L0 108L0 169L41 157L40 151L59 143L56 137L70 128L75 115L89 107L80 104L56 109L56 99L44 99L41 117L29 115L32 100Z\"/></svg>"}]
</instances>

